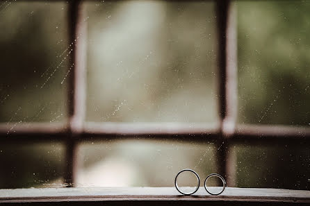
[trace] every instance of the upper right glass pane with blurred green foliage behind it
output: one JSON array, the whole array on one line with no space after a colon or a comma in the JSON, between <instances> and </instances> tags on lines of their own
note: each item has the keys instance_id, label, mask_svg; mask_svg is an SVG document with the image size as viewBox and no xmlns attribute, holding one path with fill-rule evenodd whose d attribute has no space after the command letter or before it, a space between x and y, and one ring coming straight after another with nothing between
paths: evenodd
<instances>
[{"instance_id":1,"label":"upper right glass pane with blurred green foliage behind it","mask_svg":"<svg viewBox=\"0 0 310 206\"><path fill-rule=\"evenodd\" d=\"M240 123L310 125L309 10L309 1L238 1Z\"/></svg>"}]
</instances>

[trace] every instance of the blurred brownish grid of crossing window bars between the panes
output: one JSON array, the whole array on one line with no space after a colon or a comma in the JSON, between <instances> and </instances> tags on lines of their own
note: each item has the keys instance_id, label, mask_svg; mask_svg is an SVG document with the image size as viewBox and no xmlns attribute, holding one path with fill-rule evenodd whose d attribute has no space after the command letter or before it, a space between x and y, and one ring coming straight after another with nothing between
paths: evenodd
<instances>
[{"instance_id":1,"label":"blurred brownish grid of crossing window bars between the panes","mask_svg":"<svg viewBox=\"0 0 310 206\"><path fill-rule=\"evenodd\" d=\"M170 0L168 0L170 1ZM209 1L209 0L206 0ZM76 174L76 146L80 141L94 139L182 139L185 141L215 141L219 172L227 178L229 187L235 186L235 157L229 153L233 144L310 144L310 129L292 126L236 125L237 116L237 40L236 8L234 0L217 0L218 17L218 105L220 123L191 125L190 123L91 123L85 119L85 62L86 22L83 21L82 0L69 4L70 42L74 49L68 76L68 123L26 123L15 125L9 135L10 123L0 124L0 141L65 141L65 183L74 187ZM13 123L11 123L13 124Z\"/></svg>"}]
</instances>

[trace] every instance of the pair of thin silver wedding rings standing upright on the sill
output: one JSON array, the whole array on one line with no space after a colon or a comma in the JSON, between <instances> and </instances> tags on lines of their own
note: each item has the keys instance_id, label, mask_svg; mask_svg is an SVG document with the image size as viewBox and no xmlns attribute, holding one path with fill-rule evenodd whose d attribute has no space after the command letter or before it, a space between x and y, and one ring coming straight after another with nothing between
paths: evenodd
<instances>
[{"instance_id":1,"label":"pair of thin silver wedding rings standing upright on the sill","mask_svg":"<svg viewBox=\"0 0 310 206\"><path fill-rule=\"evenodd\" d=\"M178 186L177 178L178 178L178 176L179 176L181 173L183 173L184 171L190 171L190 172L194 173L194 175L196 176L197 182L198 182L198 183L197 183L197 186L196 186L196 188L195 188L194 191L184 192L184 191L181 191L180 187ZM213 192L209 191L209 189L208 189L207 186L206 186L206 182L208 182L209 178L211 178L211 177L217 177L217 178L220 178L220 180L222 180L222 183L223 183L222 190L219 191L218 193L213 193ZM174 180L174 186L175 186L175 188L177 188L177 191L179 191L179 193L181 193L181 194L183 194L183 195L186 195L186 196L190 196L191 194L194 194L194 193L199 189L199 185L200 185L200 178L199 178L199 175L198 175L195 171L193 171L192 169L183 169L183 170L179 171L179 173L177 174L177 176L175 177L175 180ZM213 196L217 196L217 195L221 194L221 193L225 190L225 187L226 187L226 181L225 181L225 179L224 179L221 175L219 175L219 174L217 174L217 173L211 173L210 175L208 175L208 176L206 177L206 180L204 180L204 189L206 189L206 191L207 191L209 194L213 195Z\"/></svg>"}]
</instances>

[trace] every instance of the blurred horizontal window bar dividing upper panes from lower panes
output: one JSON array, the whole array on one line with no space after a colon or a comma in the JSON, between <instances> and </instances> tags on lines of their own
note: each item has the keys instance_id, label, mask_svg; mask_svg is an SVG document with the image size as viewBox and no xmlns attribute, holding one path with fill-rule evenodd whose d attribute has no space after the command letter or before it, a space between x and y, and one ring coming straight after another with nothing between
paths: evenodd
<instances>
[{"instance_id":1,"label":"blurred horizontal window bar dividing upper panes from lower panes","mask_svg":"<svg viewBox=\"0 0 310 206\"><path fill-rule=\"evenodd\" d=\"M66 123L1 123L0 141L42 141L64 139L70 135ZM183 139L186 141L220 140L220 126L208 123L92 123L84 124L76 138L94 139ZM186 137L186 138L185 138ZM229 143L243 141L302 140L310 143L310 128L293 126L238 125ZM295 141L298 143L300 141ZM281 143L281 142L280 142Z\"/></svg>"}]
</instances>

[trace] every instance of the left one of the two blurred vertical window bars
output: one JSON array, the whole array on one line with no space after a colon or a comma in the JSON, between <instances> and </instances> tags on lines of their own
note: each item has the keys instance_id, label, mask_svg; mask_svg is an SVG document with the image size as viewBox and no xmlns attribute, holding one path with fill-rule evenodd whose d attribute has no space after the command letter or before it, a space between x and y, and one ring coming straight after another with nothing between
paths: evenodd
<instances>
[{"instance_id":1,"label":"left one of the two blurred vertical window bars","mask_svg":"<svg viewBox=\"0 0 310 206\"><path fill-rule=\"evenodd\" d=\"M74 175L76 173L76 136L83 131L85 119L85 51L86 31L83 20L82 1L70 1L69 8L70 44L72 52L68 70L68 101L69 110L69 135L67 137L67 168L65 183L68 187L74 186Z\"/></svg>"}]
</instances>

